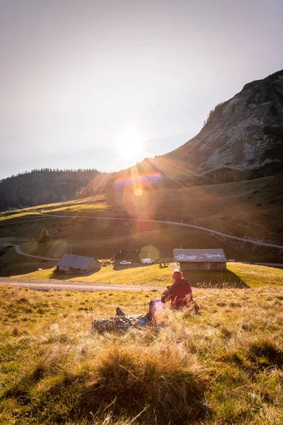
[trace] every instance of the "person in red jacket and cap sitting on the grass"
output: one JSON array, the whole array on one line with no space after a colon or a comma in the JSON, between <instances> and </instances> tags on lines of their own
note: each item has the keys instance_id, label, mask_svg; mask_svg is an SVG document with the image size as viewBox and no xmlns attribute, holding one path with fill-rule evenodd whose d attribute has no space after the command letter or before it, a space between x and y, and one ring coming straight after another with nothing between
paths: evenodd
<instances>
[{"instance_id":1,"label":"person in red jacket and cap sitting on the grass","mask_svg":"<svg viewBox=\"0 0 283 425\"><path fill-rule=\"evenodd\" d=\"M192 308L194 312L199 309L197 303L192 299L192 288L190 283L183 278L183 273L175 270L172 274L172 285L161 295L161 302L171 300L171 308L180 310L182 308Z\"/></svg>"}]
</instances>

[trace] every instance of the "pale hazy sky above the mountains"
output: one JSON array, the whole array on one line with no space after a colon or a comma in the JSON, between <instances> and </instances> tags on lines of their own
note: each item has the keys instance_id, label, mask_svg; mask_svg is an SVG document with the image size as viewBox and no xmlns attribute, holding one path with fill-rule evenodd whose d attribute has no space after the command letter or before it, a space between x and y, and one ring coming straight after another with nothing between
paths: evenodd
<instances>
[{"instance_id":1,"label":"pale hazy sky above the mountains","mask_svg":"<svg viewBox=\"0 0 283 425\"><path fill-rule=\"evenodd\" d=\"M282 0L0 0L0 178L183 145L283 68L282 17Z\"/></svg>"}]
</instances>

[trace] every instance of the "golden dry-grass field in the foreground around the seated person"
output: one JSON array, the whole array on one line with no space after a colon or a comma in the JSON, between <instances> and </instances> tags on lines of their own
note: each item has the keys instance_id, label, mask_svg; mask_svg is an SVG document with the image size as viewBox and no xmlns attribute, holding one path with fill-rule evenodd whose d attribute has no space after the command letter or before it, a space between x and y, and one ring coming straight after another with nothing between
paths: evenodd
<instances>
[{"instance_id":1,"label":"golden dry-grass field in the foreground around the seated person","mask_svg":"<svg viewBox=\"0 0 283 425\"><path fill-rule=\"evenodd\" d=\"M1 286L1 424L283 424L283 288L195 289L200 315L90 330L159 296Z\"/></svg>"}]
</instances>

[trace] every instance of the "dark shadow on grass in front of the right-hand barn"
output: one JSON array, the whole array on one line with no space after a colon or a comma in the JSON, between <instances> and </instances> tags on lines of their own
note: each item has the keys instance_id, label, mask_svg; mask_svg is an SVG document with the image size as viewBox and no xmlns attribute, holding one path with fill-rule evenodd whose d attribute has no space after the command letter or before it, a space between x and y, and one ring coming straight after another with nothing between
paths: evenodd
<instances>
[{"instance_id":1,"label":"dark shadow on grass in front of the right-hand barn","mask_svg":"<svg viewBox=\"0 0 283 425\"><path fill-rule=\"evenodd\" d=\"M185 279L195 288L250 288L236 273L226 271L183 271Z\"/></svg>"}]
</instances>

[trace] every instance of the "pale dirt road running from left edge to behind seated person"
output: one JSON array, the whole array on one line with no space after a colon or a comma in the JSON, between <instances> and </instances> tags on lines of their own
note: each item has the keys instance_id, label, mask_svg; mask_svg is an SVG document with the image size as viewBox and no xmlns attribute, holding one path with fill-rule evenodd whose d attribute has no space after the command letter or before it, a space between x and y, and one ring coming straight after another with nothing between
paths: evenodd
<instances>
[{"instance_id":1,"label":"pale dirt road running from left edge to behind seated person","mask_svg":"<svg viewBox=\"0 0 283 425\"><path fill-rule=\"evenodd\" d=\"M96 292L103 290L154 290L160 294L163 292L162 287L144 286L144 285L115 285L112 283L91 283L77 282L76 280L37 280L37 279L10 279L0 278L0 285L19 286L20 288L28 288L33 290L67 290L71 292Z\"/></svg>"}]
</instances>

